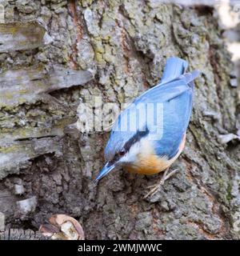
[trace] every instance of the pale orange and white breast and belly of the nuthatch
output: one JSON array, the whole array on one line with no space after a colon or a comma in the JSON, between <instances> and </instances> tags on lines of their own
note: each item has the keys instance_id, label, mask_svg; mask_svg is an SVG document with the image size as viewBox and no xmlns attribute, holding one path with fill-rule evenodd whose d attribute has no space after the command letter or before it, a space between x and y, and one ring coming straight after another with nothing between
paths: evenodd
<instances>
[{"instance_id":1,"label":"pale orange and white breast and belly of the nuthatch","mask_svg":"<svg viewBox=\"0 0 240 256\"><path fill-rule=\"evenodd\" d=\"M126 170L137 174L158 174L162 170L166 170L166 168L178 158L184 148L185 142L186 134L184 134L182 138L178 154L170 160L166 157L159 158L150 146L150 142L148 142L148 145L144 146L144 151L141 154L138 154L137 161L130 166L126 166Z\"/></svg>"}]
</instances>

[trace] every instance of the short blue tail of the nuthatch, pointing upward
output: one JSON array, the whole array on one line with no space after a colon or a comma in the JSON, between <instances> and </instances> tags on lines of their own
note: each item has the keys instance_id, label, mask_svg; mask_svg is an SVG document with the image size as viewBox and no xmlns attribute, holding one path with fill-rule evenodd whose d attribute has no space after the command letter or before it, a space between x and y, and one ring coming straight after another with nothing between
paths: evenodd
<instances>
[{"instance_id":1,"label":"short blue tail of the nuthatch, pointing upward","mask_svg":"<svg viewBox=\"0 0 240 256\"><path fill-rule=\"evenodd\" d=\"M188 63L182 58L170 57L166 59L161 83L170 82L186 72Z\"/></svg>"}]
</instances>

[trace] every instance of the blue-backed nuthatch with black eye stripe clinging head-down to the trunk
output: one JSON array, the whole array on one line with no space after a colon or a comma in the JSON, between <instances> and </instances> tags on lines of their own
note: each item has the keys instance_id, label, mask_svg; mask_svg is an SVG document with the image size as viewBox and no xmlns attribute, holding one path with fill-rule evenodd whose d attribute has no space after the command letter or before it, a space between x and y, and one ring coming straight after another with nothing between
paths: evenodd
<instances>
[{"instance_id":1,"label":"blue-backed nuthatch with black eye stripe clinging head-down to the trunk","mask_svg":"<svg viewBox=\"0 0 240 256\"><path fill-rule=\"evenodd\" d=\"M167 178L169 167L182 153L194 98L194 79L199 70L186 73L182 58L166 59L162 79L138 96L119 114L106 143L106 164L95 179L123 167L135 174L158 174L161 182L146 196L156 193Z\"/></svg>"}]
</instances>

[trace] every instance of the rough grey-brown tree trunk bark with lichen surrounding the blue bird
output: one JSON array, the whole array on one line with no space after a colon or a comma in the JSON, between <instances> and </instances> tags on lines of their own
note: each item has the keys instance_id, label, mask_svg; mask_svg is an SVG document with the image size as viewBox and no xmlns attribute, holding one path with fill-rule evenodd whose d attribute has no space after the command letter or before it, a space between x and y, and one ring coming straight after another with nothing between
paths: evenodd
<instances>
[{"instance_id":1,"label":"rough grey-brown tree trunk bark with lichen surrounding the blue bird","mask_svg":"<svg viewBox=\"0 0 240 256\"><path fill-rule=\"evenodd\" d=\"M2 5L0 212L6 229L38 230L62 213L82 223L87 239L240 238L239 143L220 136L237 133L237 89L230 86L230 54L212 8L154 0ZM79 98L131 102L159 81L173 55L202 71L186 147L172 167L178 173L146 199L147 186L161 174L121 170L96 186L108 133L68 129L78 121Z\"/></svg>"}]
</instances>

